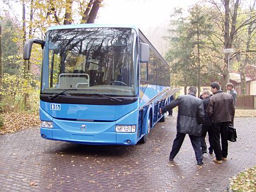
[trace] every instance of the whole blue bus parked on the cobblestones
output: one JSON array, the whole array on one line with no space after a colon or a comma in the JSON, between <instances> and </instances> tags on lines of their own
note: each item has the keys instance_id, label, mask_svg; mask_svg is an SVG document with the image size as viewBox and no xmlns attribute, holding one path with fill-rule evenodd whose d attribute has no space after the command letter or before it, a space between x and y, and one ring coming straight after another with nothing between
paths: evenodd
<instances>
[{"instance_id":1,"label":"whole blue bus parked on the cobblestones","mask_svg":"<svg viewBox=\"0 0 256 192\"><path fill-rule=\"evenodd\" d=\"M170 102L169 65L132 25L49 27L41 44L41 137L82 144L145 143Z\"/></svg>"}]
</instances>

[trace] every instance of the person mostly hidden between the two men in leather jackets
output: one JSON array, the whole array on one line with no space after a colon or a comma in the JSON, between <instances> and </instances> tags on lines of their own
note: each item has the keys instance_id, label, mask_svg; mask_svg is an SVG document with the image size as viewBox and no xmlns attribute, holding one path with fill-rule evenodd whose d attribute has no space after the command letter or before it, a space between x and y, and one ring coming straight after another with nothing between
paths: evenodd
<instances>
[{"instance_id":1,"label":"person mostly hidden between the two men in leather jackets","mask_svg":"<svg viewBox=\"0 0 256 192\"><path fill-rule=\"evenodd\" d=\"M202 101L204 105L204 110L206 110L208 101L210 99L210 91L204 90L202 93ZM202 124L202 135L201 135L201 148L202 148L202 154L207 153L207 144L205 143L205 136L208 132L208 140L210 143L210 147L208 148L209 154L213 154L213 144L212 144L212 121L210 120L208 113L204 113L204 123Z\"/></svg>"}]
</instances>

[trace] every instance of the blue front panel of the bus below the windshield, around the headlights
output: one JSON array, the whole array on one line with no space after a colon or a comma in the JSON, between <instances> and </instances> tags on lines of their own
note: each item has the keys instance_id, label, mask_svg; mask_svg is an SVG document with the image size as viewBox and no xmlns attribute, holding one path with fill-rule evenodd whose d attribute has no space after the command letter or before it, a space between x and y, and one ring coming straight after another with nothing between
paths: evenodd
<instances>
[{"instance_id":1,"label":"blue front panel of the bus below the windshield, around the headlights","mask_svg":"<svg viewBox=\"0 0 256 192\"><path fill-rule=\"evenodd\" d=\"M129 144L137 143L136 132L116 133L115 126L116 124L138 126L138 101L129 105L101 105L100 111L98 105L62 104L61 110L49 110L50 104L41 101L40 106L40 119L53 121L52 129L41 127L41 135L46 135L46 139L87 144L128 144L127 140L130 140ZM97 121L105 119L106 116L107 120ZM76 119L87 119L87 121L76 121ZM82 125L86 125L85 131L80 129Z\"/></svg>"}]
</instances>

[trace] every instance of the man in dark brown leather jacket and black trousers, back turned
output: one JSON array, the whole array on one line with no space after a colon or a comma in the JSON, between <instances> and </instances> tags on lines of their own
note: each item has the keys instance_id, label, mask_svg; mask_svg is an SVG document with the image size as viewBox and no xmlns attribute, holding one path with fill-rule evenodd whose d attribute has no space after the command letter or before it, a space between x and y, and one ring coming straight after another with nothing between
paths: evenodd
<instances>
[{"instance_id":1,"label":"man in dark brown leather jacket and black trousers, back turned","mask_svg":"<svg viewBox=\"0 0 256 192\"><path fill-rule=\"evenodd\" d=\"M213 122L213 150L216 157L213 162L221 164L222 160L227 160L227 130L229 124L233 122L235 107L232 95L221 91L218 82L211 84L211 90L213 96L209 99L206 111ZM219 135L221 135L221 144Z\"/></svg>"}]
</instances>

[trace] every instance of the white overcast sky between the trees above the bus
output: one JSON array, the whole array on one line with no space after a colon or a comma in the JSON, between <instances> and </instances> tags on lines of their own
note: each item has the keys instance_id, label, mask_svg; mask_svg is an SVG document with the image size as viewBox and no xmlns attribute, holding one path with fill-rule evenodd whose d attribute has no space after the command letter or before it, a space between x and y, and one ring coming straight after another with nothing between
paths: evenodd
<instances>
[{"instance_id":1,"label":"white overcast sky between the trees above the bus","mask_svg":"<svg viewBox=\"0 0 256 192\"><path fill-rule=\"evenodd\" d=\"M96 23L135 24L140 28L165 24L174 7L185 10L197 0L104 0Z\"/></svg>"}]
</instances>

